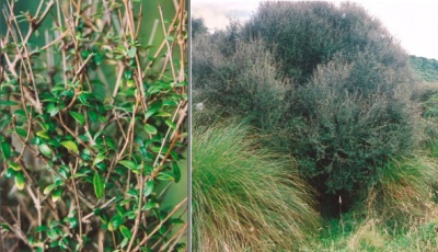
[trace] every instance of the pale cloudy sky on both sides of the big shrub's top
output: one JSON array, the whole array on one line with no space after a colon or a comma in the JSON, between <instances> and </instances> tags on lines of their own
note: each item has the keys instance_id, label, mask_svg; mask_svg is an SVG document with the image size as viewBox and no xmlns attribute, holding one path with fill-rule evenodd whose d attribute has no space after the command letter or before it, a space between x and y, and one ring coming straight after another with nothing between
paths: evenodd
<instances>
[{"instance_id":1,"label":"pale cloudy sky on both sides of the big shrub's top","mask_svg":"<svg viewBox=\"0 0 438 252\"><path fill-rule=\"evenodd\" d=\"M214 32L230 19L244 21L256 12L261 0L192 0L192 15L203 18ZM330 2L342 2L332 0ZM410 55L438 59L437 0L356 0L379 19Z\"/></svg>"}]
</instances>

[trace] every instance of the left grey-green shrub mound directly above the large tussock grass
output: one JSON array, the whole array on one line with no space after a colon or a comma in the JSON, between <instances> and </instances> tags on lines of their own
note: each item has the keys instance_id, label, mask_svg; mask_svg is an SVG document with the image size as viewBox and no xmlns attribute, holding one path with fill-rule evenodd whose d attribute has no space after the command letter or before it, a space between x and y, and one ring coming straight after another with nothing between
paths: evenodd
<instances>
[{"instance_id":1,"label":"left grey-green shrub mound directly above the large tussock grass","mask_svg":"<svg viewBox=\"0 0 438 252\"><path fill-rule=\"evenodd\" d=\"M288 83L277 78L263 42L238 41L231 49L229 41L234 39L230 38L234 33L194 39L194 101L221 106L224 115L247 117L258 128L277 127L286 108Z\"/></svg>"}]
</instances>

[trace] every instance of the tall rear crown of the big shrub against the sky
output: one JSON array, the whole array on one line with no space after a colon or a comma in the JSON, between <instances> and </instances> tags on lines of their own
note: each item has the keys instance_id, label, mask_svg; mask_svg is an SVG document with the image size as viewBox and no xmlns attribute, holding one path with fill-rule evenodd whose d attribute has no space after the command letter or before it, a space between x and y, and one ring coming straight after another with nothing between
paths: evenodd
<instances>
[{"instance_id":1,"label":"tall rear crown of the big shrub against the sky","mask_svg":"<svg viewBox=\"0 0 438 252\"><path fill-rule=\"evenodd\" d=\"M356 3L264 2L242 33L246 39L263 38L280 72L298 83L307 82L318 65L337 53L354 60L357 53L370 51L387 66L407 61L381 23Z\"/></svg>"}]
</instances>

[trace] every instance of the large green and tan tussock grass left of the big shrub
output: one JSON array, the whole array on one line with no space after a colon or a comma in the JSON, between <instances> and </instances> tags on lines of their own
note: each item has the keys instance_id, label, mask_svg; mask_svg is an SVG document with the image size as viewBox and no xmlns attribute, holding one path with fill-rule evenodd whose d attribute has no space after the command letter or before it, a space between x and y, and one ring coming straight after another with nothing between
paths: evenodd
<instances>
[{"instance_id":1,"label":"large green and tan tussock grass left of the big shrub","mask_svg":"<svg viewBox=\"0 0 438 252\"><path fill-rule=\"evenodd\" d=\"M298 250L320 225L295 162L257 148L247 130L194 123L194 251Z\"/></svg>"}]
</instances>

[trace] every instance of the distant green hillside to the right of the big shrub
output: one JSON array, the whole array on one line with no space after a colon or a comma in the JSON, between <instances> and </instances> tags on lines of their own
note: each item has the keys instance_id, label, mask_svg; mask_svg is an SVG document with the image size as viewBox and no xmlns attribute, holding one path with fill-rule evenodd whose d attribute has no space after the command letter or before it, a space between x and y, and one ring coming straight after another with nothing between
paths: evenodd
<instances>
[{"instance_id":1,"label":"distant green hillside to the right of the big shrub","mask_svg":"<svg viewBox=\"0 0 438 252\"><path fill-rule=\"evenodd\" d=\"M425 82L438 82L438 60L411 55L412 68Z\"/></svg>"}]
</instances>

